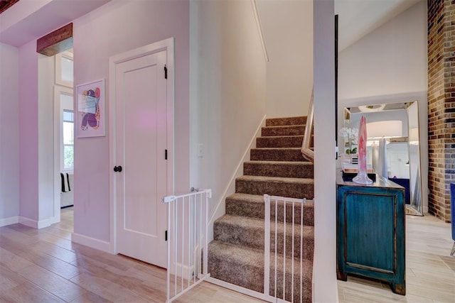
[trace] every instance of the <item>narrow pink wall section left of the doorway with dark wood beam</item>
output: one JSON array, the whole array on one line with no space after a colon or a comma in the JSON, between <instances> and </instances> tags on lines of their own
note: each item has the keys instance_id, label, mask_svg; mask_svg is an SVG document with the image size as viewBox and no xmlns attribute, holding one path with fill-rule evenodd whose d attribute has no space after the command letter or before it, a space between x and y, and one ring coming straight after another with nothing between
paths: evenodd
<instances>
[{"instance_id":1,"label":"narrow pink wall section left of the doorway with dark wood beam","mask_svg":"<svg viewBox=\"0 0 455 303\"><path fill-rule=\"evenodd\" d=\"M19 48L20 216L38 221L38 53L33 40Z\"/></svg>"}]
</instances>

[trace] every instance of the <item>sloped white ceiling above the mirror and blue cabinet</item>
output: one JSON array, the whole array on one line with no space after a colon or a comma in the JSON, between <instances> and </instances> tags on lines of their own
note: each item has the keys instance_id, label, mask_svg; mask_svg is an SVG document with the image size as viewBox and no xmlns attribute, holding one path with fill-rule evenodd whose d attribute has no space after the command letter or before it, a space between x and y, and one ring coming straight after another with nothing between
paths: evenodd
<instances>
[{"instance_id":1,"label":"sloped white ceiling above the mirror and blue cabinet","mask_svg":"<svg viewBox=\"0 0 455 303\"><path fill-rule=\"evenodd\" d=\"M338 50L352 45L419 1L424 0L335 0Z\"/></svg>"}]
</instances>

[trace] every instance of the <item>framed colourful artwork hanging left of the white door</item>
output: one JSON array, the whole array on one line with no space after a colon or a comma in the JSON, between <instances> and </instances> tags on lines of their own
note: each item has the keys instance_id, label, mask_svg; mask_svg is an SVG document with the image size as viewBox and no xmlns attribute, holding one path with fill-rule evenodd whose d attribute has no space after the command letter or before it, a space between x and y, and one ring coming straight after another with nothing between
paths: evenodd
<instances>
[{"instance_id":1,"label":"framed colourful artwork hanging left of the white door","mask_svg":"<svg viewBox=\"0 0 455 303\"><path fill-rule=\"evenodd\" d=\"M105 79L77 85L76 94L77 138L105 136Z\"/></svg>"}]
</instances>

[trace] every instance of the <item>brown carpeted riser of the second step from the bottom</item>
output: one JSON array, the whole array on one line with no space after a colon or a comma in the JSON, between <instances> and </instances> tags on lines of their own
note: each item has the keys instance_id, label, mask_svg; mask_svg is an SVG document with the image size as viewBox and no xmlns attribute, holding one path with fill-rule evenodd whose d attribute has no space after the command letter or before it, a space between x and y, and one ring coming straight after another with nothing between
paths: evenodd
<instances>
[{"instance_id":1,"label":"brown carpeted riser of the second step from the bottom","mask_svg":"<svg viewBox=\"0 0 455 303\"><path fill-rule=\"evenodd\" d=\"M298 230L294 231L294 250L292 250L292 233L291 229L287 231L286 236L286 247L283 245L284 233L279 232L277 242L277 252L281 255L284 254L286 249L287 257L300 258L300 252L302 251L302 258L304 260L311 260L313 257L314 238L311 236L304 236L304 245L300 246L300 226L296 226ZM297 234L298 233L298 234ZM264 229L257 228L245 228L242 226L233 226L231 224L225 224L215 221L213 224L213 238L215 241L223 241L232 243L235 245L246 246L256 249L264 249ZM275 251L275 232L270 232L270 251Z\"/></svg>"}]
</instances>

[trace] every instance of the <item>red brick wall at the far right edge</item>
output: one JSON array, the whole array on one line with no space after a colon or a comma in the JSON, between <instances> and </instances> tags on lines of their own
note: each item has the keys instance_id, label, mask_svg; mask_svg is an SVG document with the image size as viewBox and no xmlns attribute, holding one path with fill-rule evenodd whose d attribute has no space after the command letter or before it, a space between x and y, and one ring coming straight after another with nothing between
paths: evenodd
<instances>
[{"instance_id":1,"label":"red brick wall at the far right edge","mask_svg":"<svg viewBox=\"0 0 455 303\"><path fill-rule=\"evenodd\" d=\"M431 214L450 221L455 182L455 1L428 0L428 145Z\"/></svg>"}]
</instances>

